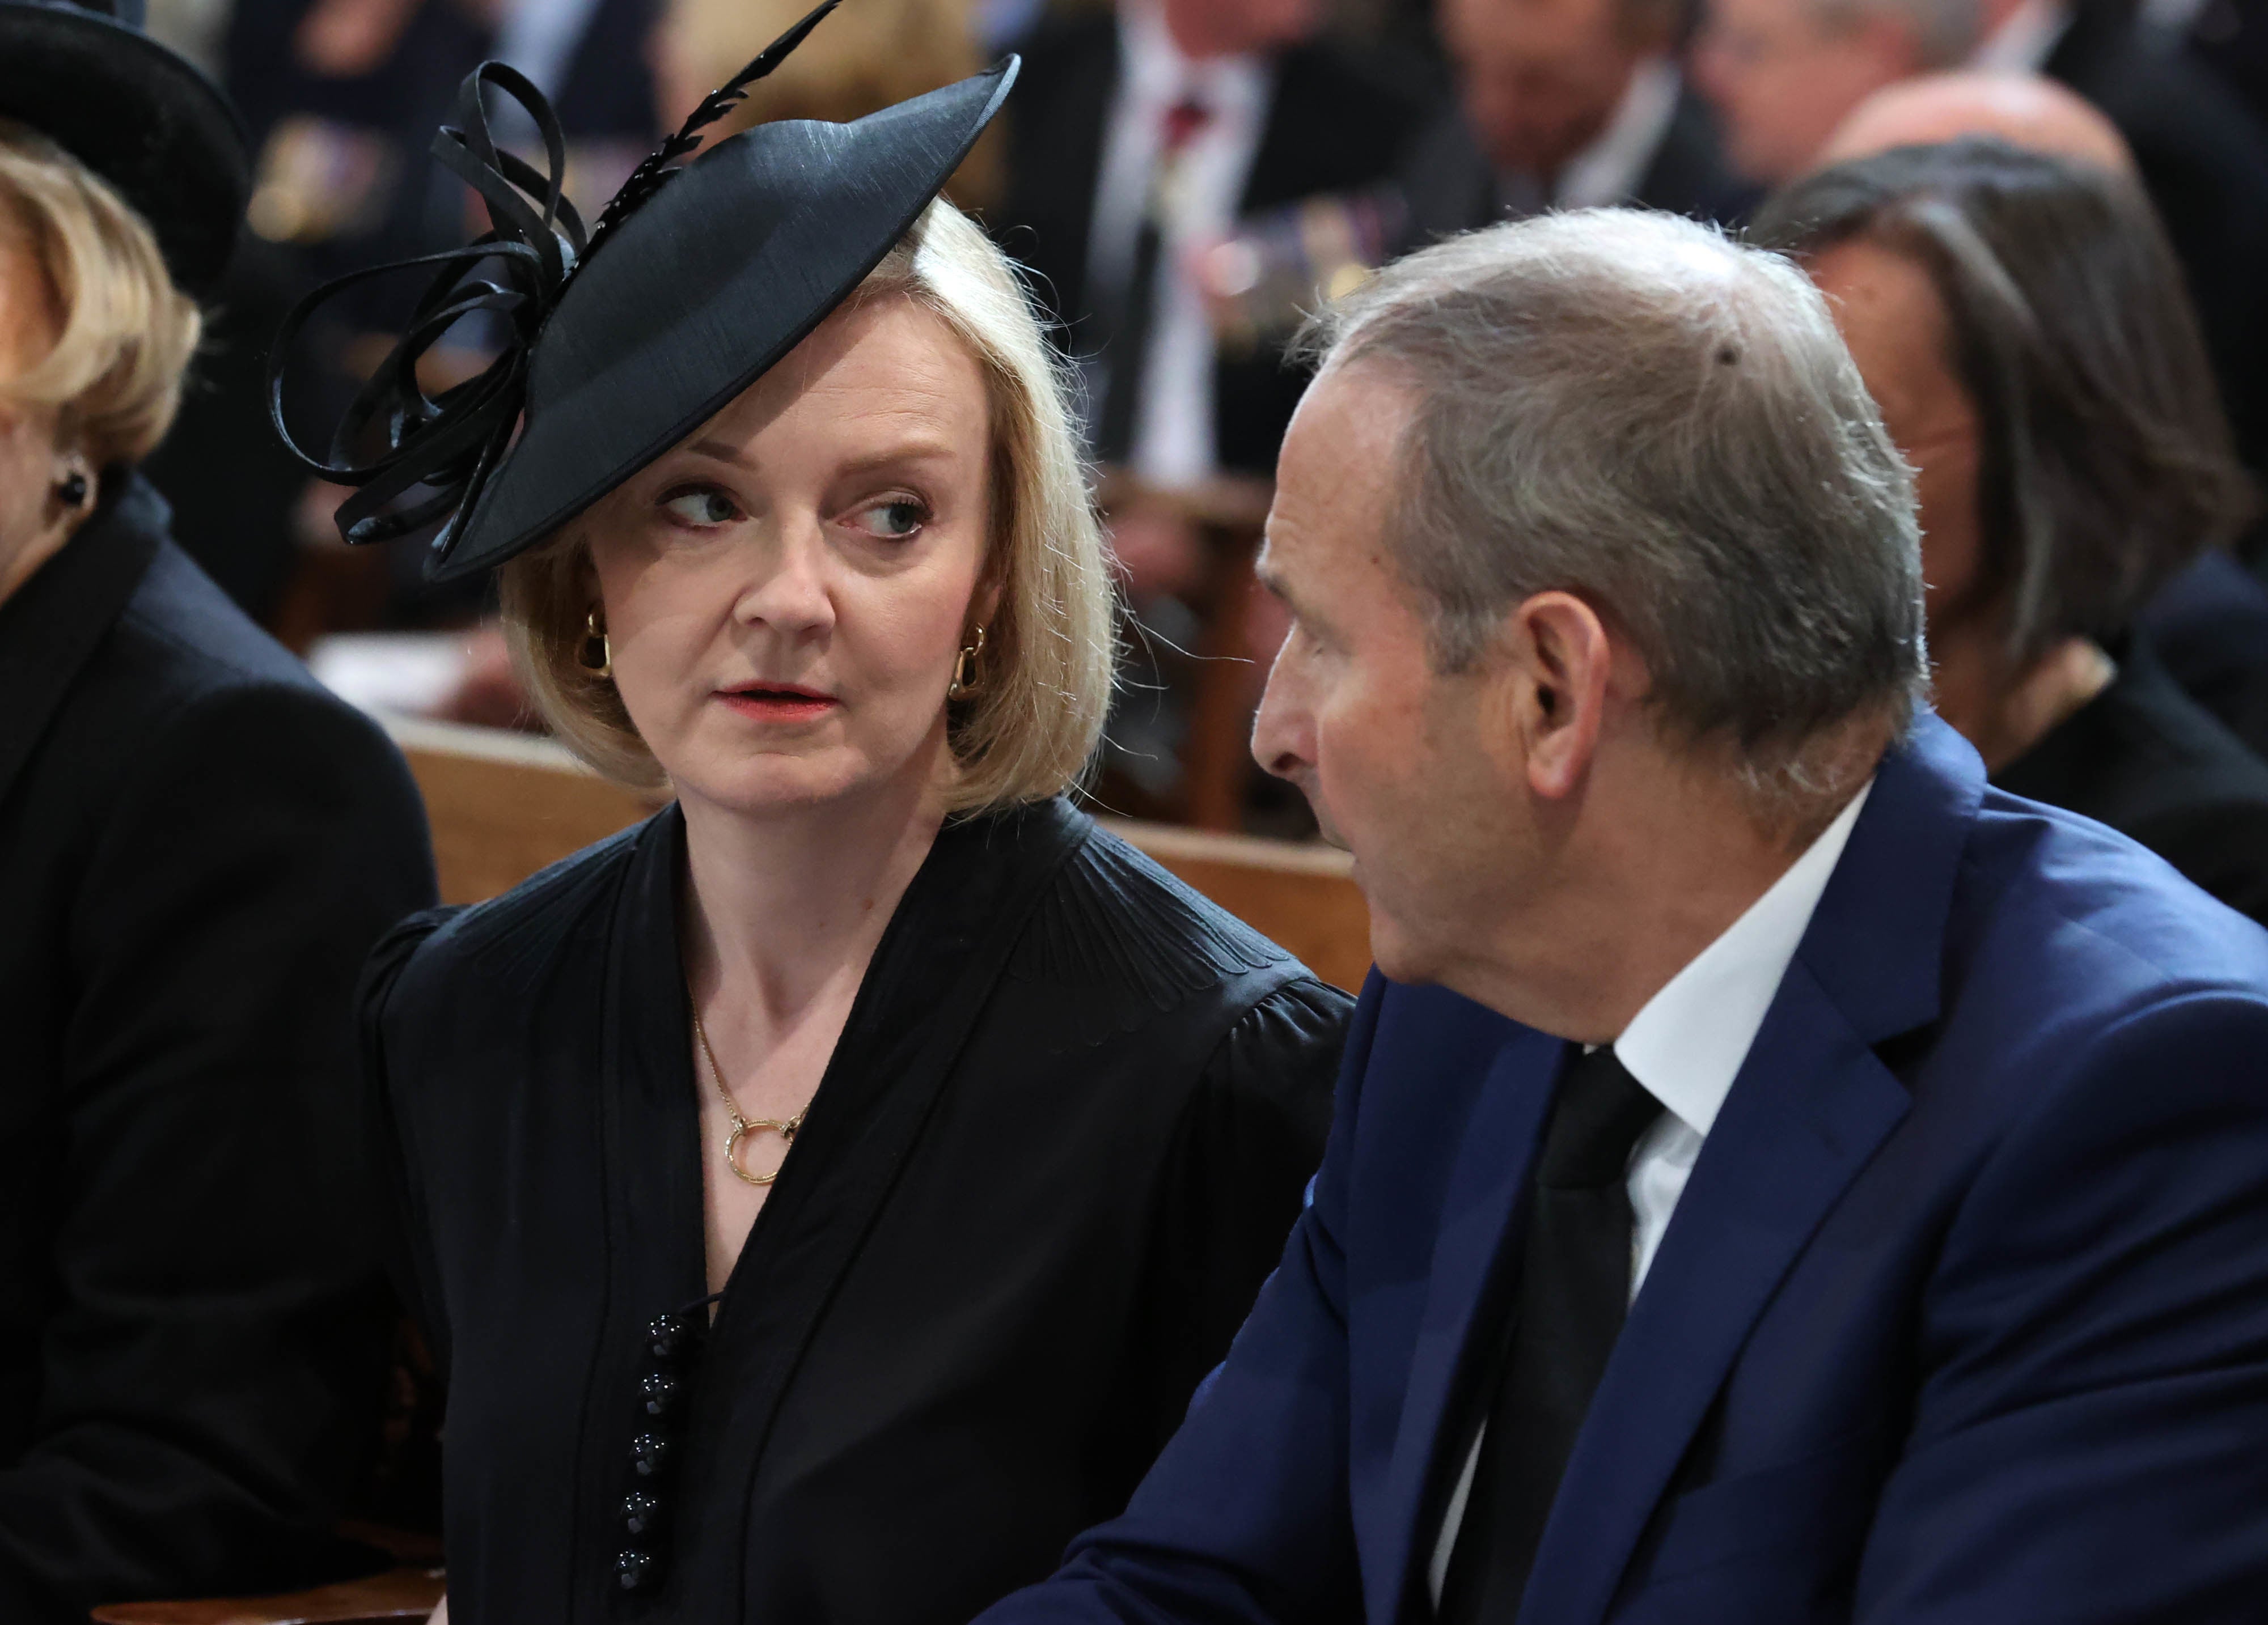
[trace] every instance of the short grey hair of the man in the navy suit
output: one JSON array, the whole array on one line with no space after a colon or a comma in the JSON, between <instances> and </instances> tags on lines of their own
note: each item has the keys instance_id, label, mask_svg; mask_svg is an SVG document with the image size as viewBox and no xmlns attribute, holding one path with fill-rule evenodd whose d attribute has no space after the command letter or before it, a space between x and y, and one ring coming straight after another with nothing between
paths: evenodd
<instances>
[{"instance_id":1,"label":"short grey hair of the man in the navy suit","mask_svg":"<svg viewBox=\"0 0 2268 1625\"><path fill-rule=\"evenodd\" d=\"M1390 546L1442 671L1563 589L1758 789L1844 789L1830 737L1905 725L1914 476L1789 261L1674 215L1538 215L1388 265L1304 349L1415 397Z\"/></svg>"}]
</instances>

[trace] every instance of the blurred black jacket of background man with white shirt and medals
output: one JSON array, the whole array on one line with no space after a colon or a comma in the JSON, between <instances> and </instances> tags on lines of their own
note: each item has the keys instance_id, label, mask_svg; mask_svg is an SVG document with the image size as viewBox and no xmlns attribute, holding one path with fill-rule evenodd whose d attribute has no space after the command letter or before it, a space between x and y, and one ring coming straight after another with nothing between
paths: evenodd
<instances>
[{"instance_id":1,"label":"blurred black jacket of background man with white shirt and medals","mask_svg":"<svg viewBox=\"0 0 2268 1625\"><path fill-rule=\"evenodd\" d=\"M1036 292L1066 326L1070 349L1091 351L1109 342L1100 331L1107 299L1089 283L1086 252L1118 86L1118 18L1102 9L1050 23L1023 45L1023 57L1007 107L1007 199L989 224L1039 274ZM1422 116L1411 75L1325 43L1279 52L1275 70L1243 215L1349 193L1397 172ZM1304 374L1284 365L1279 344L1225 354L1213 369L1220 467L1275 474L1277 446L1304 388Z\"/></svg>"}]
</instances>

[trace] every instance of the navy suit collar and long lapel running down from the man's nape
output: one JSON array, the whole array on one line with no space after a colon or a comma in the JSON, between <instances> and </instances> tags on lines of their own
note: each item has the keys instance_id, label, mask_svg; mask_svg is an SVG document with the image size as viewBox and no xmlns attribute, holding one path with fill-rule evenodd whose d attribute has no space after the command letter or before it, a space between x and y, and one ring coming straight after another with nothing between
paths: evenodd
<instances>
[{"instance_id":1,"label":"navy suit collar and long lapel running down from the man's nape","mask_svg":"<svg viewBox=\"0 0 2268 1625\"><path fill-rule=\"evenodd\" d=\"M1982 793L1984 764L1935 714L1919 716L1882 757L1631 1305L1560 1480L1522 1620L1606 1618L1749 1330L1903 1120L1910 1097L1873 1045L1937 1018L1953 882ZM1533 1092L1538 1122L1526 1145L1549 1088ZM1522 1156L1499 1215L1506 1228L1524 1174ZM1467 1326L1476 1296L1472 1281ZM1413 1394L1420 1382L1413 1369ZM1438 1416L1431 1426L1433 1448L1454 1450L1456 1441L1438 1435Z\"/></svg>"}]
</instances>

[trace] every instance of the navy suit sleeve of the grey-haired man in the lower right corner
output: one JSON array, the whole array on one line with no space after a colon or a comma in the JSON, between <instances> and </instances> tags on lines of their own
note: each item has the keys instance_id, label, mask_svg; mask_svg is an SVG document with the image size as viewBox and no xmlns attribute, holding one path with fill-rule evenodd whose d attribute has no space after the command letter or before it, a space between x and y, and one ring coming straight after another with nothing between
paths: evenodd
<instances>
[{"instance_id":1,"label":"navy suit sleeve of the grey-haired man in the lower right corner","mask_svg":"<svg viewBox=\"0 0 2268 1625\"><path fill-rule=\"evenodd\" d=\"M1978 1172L1921 1328L1855 1620L2259 1620L2268 1009L2091 1045Z\"/></svg>"}]
</instances>

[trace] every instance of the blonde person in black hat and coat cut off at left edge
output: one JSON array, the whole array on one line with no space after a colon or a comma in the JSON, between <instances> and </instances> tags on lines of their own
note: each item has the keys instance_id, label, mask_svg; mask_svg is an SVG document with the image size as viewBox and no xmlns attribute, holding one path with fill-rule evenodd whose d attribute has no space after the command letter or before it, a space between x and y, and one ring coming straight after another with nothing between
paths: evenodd
<instances>
[{"instance_id":1,"label":"blonde person in black hat and coat cut off at left edge","mask_svg":"<svg viewBox=\"0 0 2268 1625\"><path fill-rule=\"evenodd\" d=\"M132 16L0 2L0 1618L376 1564L349 999L433 900L401 757L172 544L166 435L245 199Z\"/></svg>"}]
</instances>

